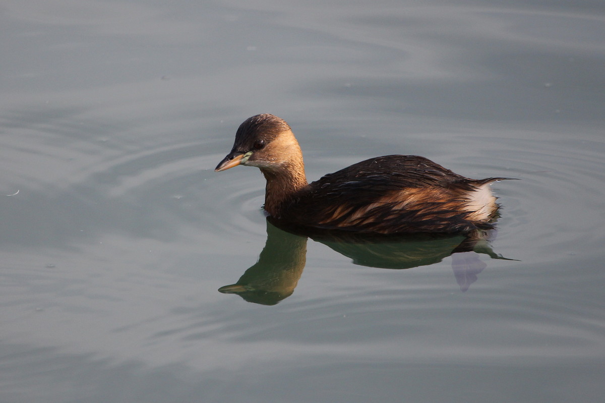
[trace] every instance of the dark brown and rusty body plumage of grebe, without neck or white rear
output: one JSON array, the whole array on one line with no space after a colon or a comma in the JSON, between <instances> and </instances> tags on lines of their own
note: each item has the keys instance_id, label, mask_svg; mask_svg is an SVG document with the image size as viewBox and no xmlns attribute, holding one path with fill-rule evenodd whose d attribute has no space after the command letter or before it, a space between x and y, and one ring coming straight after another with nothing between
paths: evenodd
<instances>
[{"instance_id":1,"label":"dark brown and rusty body plumage of grebe, without neck or white rear","mask_svg":"<svg viewBox=\"0 0 605 403\"><path fill-rule=\"evenodd\" d=\"M468 179L419 156L376 157L311 183L284 203L282 216L357 232L473 231L463 194L494 180Z\"/></svg>"}]
</instances>

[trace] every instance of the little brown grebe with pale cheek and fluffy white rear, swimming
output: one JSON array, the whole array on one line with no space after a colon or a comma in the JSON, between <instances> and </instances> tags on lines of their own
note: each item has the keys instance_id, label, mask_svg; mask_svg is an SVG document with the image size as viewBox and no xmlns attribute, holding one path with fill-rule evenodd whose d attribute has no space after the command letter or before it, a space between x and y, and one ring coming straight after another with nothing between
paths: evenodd
<instances>
[{"instance_id":1,"label":"little brown grebe with pale cheek and fluffy white rear, swimming","mask_svg":"<svg viewBox=\"0 0 605 403\"><path fill-rule=\"evenodd\" d=\"M489 185L419 156L358 162L307 183L292 129L271 114L237 129L215 171L257 166L267 180L264 209L284 223L373 234L470 232L492 228L498 205Z\"/></svg>"}]
</instances>

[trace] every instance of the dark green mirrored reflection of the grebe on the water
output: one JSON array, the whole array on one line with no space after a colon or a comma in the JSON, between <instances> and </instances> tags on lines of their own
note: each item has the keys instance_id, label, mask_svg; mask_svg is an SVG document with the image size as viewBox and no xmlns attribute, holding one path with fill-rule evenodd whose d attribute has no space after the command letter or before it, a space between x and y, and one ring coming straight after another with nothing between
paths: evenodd
<instances>
[{"instance_id":1,"label":"dark green mirrored reflection of the grebe on the water","mask_svg":"<svg viewBox=\"0 0 605 403\"><path fill-rule=\"evenodd\" d=\"M278 228L280 225L281 228ZM495 254L489 238L495 230L467 235L408 235L393 237L320 232L308 228L284 227L267 218L267 243L253 264L235 284L220 287L222 293L238 294L244 300L275 305L292 295L306 263L307 239L329 246L360 266L410 269L428 266L452 256L452 269L463 292L487 266L478 254L509 260Z\"/></svg>"}]
</instances>

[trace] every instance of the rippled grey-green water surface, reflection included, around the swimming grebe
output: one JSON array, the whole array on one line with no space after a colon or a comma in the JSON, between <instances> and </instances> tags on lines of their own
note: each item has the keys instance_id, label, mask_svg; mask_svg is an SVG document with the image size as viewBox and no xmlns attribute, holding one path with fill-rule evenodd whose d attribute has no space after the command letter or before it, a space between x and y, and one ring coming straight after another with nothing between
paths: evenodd
<instances>
[{"instance_id":1,"label":"rippled grey-green water surface, reflection included, around the swimming grebe","mask_svg":"<svg viewBox=\"0 0 605 403\"><path fill-rule=\"evenodd\" d=\"M0 401L600 401L604 22L600 1L5 1ZM520 180L476 252L267 234L260 172L213 171L263 112L310 180L394 153ZM218 292L250 277L278 297Z\"/></svg>"}]
</instances>

